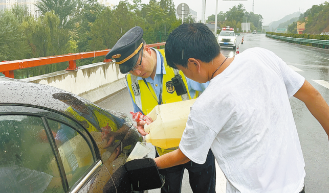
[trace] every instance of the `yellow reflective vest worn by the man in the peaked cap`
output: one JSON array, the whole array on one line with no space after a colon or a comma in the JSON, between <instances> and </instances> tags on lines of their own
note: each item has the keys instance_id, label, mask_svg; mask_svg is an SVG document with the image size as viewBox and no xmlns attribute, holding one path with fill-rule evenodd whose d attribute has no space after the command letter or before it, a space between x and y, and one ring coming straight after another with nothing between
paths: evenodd
<instances>
[{"instance_id":1,"label":"yellow reflective vest worn by the man in the peaked cap","mask_svg":"<svg viewBox=\"0 0 329 193\"><path fill-rule=\"evenodd\" d=\"M164 104L166 103L173 103L173 102L179 102L179 101L183 101L183 97L177 95L175 88L172 84L171 78L173 78L175 76L175 72L174 69L169 67L167 65L167 61L165 59L165 54L164 54L164 50L158 50L160 52L160 54L163 56L164 58L164 65L165 65L165 70L166 70L166 74L163 75L163 83L162 83L162 102ZM186 78L184 76L184 74L182 73L182 71L179 71L179 74L182 76L183 78L183 82L186 86L187 89L187 95L188 95L188 99L195 99L196 96L199 95L198 91L195 91L195 95L191 96L190 92L188 90L188 85L186 82ZM156 98L158 98L159 96L157 96L156 92L153 90L152 86L150 83L148 84L148 87L146 86L145 82L143 80L137 80L137 86L135 86L135 88L139 88L138 89L138 96L135 95L136 93L136 89L135 92L133 90L133 87L131 86L134 83L134 75L131 74L127 74L126 76L127 79L127 83L128 83L128 88L130 90L131 96L133 97L133 100L135 102L135 104L143 111L143 113L146 115L148 114L155 106L158 105L158 102L153 98L153 96L155 96ZM136 80L136 77L135 77ZM138 101L140 100L140 101ZM159 99L157 99L159 100ZM159 147L157 148L157 152L158 154L161 156L163 154L166 154L168 152L171 152L173 150L178 149L178 147L176 148L170 148L170 149L162 149Z\"/></svg>"}]
</instances>

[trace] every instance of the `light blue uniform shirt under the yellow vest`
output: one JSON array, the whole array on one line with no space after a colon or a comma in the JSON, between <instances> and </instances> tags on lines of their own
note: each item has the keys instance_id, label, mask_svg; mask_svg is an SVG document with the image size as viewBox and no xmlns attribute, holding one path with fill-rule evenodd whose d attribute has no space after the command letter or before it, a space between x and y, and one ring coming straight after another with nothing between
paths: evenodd
<instances>
[{"instance_id":1,"label":"light blue uniform shirt under the yellow vest","mask_svg":"<svg viewBox=\"0 0 329 193\"><path fill-rule=\"evenodd\" d=\"M153 49L151 47L151 49ZM159 51L157 51L156 49L153 49L156 51L157 53L157 70L156 70L156 76L154 77L154 80L152 80L151 77L148 77L146 78L146 82L150 83L150 85L152 86L153 90L156 92L157 96L155 96L158 100L159 98L159 94L160 94L160 86L161 86L161 59L160 59L160 53ZM163 68L163 74L165 75L166 74L166 69ZM137 77L137 80L143 80L143 78L141 77ZM204 91L207 86L209 85L209 82L206 82L206 83L198 83L198 82L195 82L189 78L186 77L186 82L187 82L187 86L188 86L188 90L191 94L191 97L193 98L194 95L195 95L195 91ZM127 83L128 84L128 83ZM158 85L158 86L156 86ZM130 90L128 88L128 92L130 94L130 98L131 98L131 101L133 101L133 106L134 106L134 112L138 112L140 111L141 113L143 113L143 111L136 105L136 103L134 102L134 99L133 99L133 96L131 95L130 93Z\"/></svg>"}]
</instances>

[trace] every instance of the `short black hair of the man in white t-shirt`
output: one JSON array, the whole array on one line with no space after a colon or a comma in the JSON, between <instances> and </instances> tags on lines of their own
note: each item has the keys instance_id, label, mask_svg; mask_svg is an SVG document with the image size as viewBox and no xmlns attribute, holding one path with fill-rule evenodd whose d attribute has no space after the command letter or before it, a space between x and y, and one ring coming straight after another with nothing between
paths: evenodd
<instances>
[{"instance_id":1,"label":"short black hair of the man in white t-shirt","mask_svg":"<svg viewBox=\"0 0 329 193\"><path fill-rule=\"evenodd\" d=\"M183 23L170 33L165 45L167 64L172 68L186 68L189 58L210 62L220 52L215 35L203 23Z\"/></svg>"}]
</instances>

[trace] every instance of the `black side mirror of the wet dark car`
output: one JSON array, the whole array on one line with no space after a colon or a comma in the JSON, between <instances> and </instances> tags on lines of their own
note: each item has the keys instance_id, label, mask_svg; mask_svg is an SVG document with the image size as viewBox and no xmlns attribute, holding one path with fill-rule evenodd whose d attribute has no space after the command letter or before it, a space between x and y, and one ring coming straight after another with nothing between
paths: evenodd
<instances>
[{"instance_id":1,"label":"black side mirror of the wet dark car","mask_svg":"<svg viewBox=\"0 0 329 193\"><path fill-rule=\"evenodd\" d=\"M152 158L131 160L126 162L124 167L131 183L131 190L155 189L164 185L164 177L160 175Z\"/></svg>"}]
</instances>

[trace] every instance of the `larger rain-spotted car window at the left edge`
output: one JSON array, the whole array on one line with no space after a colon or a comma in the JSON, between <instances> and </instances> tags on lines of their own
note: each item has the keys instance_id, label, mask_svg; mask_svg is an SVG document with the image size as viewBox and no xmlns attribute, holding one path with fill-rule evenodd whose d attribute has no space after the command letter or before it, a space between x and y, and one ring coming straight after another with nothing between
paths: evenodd
<instances>
[{"instance_id":1,"label":"larger rain-spotted car window at the left edge","mask_svg":"<svg viewBox=\"0 0 329 193\"><path fill-rule=\"evenodd\" d=\"M64 192L40 117L0 115L1 192Z\"/></svg>"}]
</instances>

